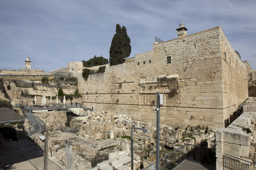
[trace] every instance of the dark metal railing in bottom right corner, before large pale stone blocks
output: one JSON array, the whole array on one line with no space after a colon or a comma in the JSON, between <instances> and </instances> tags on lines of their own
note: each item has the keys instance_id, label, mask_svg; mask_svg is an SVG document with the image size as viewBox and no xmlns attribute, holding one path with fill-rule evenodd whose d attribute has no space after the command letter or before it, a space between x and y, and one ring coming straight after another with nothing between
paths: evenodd
<instances>
[{"instance_id":1,"label":"dark metal railing in bottom right corner, before large pale stone blocks","mask_svg":"<svg viewBox=\"0 0 256 170\"><path fill-rule=\"evenodd\" d=\"M228 155L223 153L223 170L255 170L256 164L237 158L235 156Z\"/></svg>"}]
</instances>

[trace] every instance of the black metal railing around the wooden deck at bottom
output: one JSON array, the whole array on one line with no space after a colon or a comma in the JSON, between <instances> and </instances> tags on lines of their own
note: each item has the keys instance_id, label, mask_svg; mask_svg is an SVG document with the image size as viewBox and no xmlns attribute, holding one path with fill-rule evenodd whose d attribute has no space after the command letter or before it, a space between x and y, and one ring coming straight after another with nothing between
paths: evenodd
<instances>
[{"instance_id":1,"label":"black metal railing around the wooden deck at bottom","mask_svg":"<svg viewBox=\"0 0 256 170\"><path fill-rule=\"evenodd\" d=\"M215 149L201 147L196 145L185 144L178 149L165 155L159 160L160 170L172 170L176 166L183 163L185 160L205 164L208 166L216 167L216 152ZM156 162L153 162L142 170L155 170Z\"/></svg>"}]
</instances>

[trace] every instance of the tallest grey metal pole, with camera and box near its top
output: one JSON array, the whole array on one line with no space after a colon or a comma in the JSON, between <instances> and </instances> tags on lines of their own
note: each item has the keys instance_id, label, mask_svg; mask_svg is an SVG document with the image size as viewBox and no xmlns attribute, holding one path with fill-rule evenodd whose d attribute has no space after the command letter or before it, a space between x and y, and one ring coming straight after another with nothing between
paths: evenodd
<instances>
[{"instance_id":1,"label":"tallest grey metal pole, with camera and box near its top","mask_svg":"<svg viewBox=\"0 0 256 170\"><path fill-rule=\"evenodd\" d=\"M160 93L156 93L156 170L159 170L159 135L160 135L160 107L159 107L159 95Z\"/></svg>"}]
</instances>

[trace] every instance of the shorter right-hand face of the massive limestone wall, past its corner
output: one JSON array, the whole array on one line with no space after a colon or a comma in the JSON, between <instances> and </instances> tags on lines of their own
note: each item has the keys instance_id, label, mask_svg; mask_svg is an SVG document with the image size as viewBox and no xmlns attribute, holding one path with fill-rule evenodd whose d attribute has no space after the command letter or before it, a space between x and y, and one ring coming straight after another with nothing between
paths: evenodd
<instances>
[{"instance_id":1,"label":"shorter right-hand face of the massive limestone wall, past its corner","mask_svg":"<svg viewBox=\"0 0 256 170\"><path fill-rule=\"evenodd\" d=\"M248 72L231 44L221 31L220 34L223 80L223 111L225 126L232 122L230 115L239 109L248 97Z\"/></svg>"}]
</instances>

